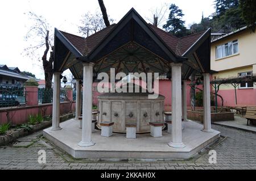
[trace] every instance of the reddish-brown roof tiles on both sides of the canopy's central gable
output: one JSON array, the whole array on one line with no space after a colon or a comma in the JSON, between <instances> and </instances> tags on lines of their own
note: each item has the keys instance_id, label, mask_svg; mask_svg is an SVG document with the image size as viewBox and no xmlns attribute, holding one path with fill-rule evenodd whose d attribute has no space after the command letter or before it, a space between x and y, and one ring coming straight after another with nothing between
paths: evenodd
<instances>
[{"instance_id":1,"label":"reddish-brown roof tiles on both sides of the canopy's central gable","mask_svg":"<svg viewBox=\"0 0 256 181\"><path fill-rule=\"evenodd\" d=\"M177 56L182 56L205 32L203 31L177 38L174 35L153 26L152 24L148 24L148 26L151 27L151 30L153 30ZM114 27L115 24L112 24L111 26L106 27L86 38L63 31L60 32L63 33L63 35L76 47L76 49L80 51L80 53L86 55L96 48L96 46L100 44L104 37L108 35Z\"/></svg>"}]
</instances>

